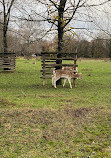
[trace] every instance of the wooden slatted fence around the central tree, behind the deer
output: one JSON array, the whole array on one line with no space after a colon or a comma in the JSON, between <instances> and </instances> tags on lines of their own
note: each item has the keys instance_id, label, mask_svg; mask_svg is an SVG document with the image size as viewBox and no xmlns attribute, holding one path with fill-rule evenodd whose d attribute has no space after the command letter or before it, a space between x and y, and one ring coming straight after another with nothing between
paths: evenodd
<instances>
[{"instance_id":1,"label":"wooden slatted fence around the central tree, behind the deer","mask_svg":"<svg viewBox=\"0 0 111 158\"><path fill-rule=\"evenodd\" d=\"M43 79L43 85L46 83L46 79L52 78L53 69L62 66L74 66L78 67L77 65L77 53L61 53L61 58L57 58L58 53L57 52L42 52L41 53L41 66L42 66L42 79ZM64 60L73 60L73 64L57 64L57 61L64 61ZM66 62L67 63L67 62ZM75 80L73 82L73 86L75 87Z\"/></svg>"}]
</instances>

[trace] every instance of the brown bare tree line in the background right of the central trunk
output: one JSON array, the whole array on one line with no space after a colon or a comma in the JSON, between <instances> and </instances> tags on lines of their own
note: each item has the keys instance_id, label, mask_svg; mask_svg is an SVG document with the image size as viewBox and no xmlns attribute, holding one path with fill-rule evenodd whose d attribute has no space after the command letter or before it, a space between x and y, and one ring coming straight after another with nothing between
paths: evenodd
<instances>
[{"instance_id":1,"label":"brown bare tree line in the background right of the central trunk","mask_svg":"<svg viewBox=\"0 0 111 158\"><path fill-rule=\"evenodd\" d=\"M78 52L78 57L83 58L110 58L111 40L100 37L91 41L68 38L65 41L64 52Z\"/></svg>"}]
</instances>

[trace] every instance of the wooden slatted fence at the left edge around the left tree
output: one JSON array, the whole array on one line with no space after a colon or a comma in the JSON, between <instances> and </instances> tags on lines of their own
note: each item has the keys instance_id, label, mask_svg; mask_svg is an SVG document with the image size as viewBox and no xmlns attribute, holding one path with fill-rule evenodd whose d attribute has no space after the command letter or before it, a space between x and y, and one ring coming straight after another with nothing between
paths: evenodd
<instances>
[{"instance_id":1,"label":"wooden slatted fence at the left edge around the left tree","mask_svg":"<svg viewBox=\"0 0 111 158\"><path fill-rule=\"evenodd\" d=\"M0 71L14 71L15 60L15 53L0 53Z\"/></svg>"}]
</instances>

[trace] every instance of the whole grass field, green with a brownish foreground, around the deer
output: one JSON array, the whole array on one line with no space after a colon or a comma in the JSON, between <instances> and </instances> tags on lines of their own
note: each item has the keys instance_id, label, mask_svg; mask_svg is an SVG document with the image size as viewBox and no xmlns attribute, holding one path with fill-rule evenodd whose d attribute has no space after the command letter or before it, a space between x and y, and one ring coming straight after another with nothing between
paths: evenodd
<instances>
[{"instance_id":1,"label":"whole grass field, green with a brownish foreground, around the deer","mask_svg":"<svg viewBox=\"0 0 111 158\"><path fill-rule=\"evenodd\" d=\"M54 89L34 61L0 73L0 158L111 158L111 62L78 61L83 80Z\"/></svg>"}]
</instances>

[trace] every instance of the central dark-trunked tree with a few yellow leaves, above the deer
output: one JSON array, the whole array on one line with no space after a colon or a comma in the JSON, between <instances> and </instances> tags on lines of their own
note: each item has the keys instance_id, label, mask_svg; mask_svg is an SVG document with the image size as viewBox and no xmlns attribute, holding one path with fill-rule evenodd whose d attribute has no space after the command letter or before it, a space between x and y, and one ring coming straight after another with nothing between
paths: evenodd
<instances>
[{"instance_id":1,"label":"central dark-trunked tree with a few yellow leaves, above the deer","mask_svg":"<svg viewBox=\"0 0 111 158\"><path fill-rule=\"evenodd\" d=\"M63 35L65 32L71 32L75 27L71 27L69 24L76 19L76 15L80 16L83 14L87 17L85 23L91 19L88 10L92 7L102 6L108 3L110 0L99 0L99 1L91 1L91 0L37 0L41 5L44 5L45 9L42 13L37 13L44 21L47 21L50 24L50 28L47 31L57 30L58 34L58 58L61 58L61 51L64 46ZM81 9L81 12L80 12ZM79 21L79 19L78 19ZM83 19L80 19L83 21ZM92 20L91 20L92 22ZM78 28L79 29L79 28ZM87 29L87 28L80 28ZM61 64L61 60L57 60L57 64ZM60 69L60 67L57 67Z\"/></svg>"}]
</instances>

